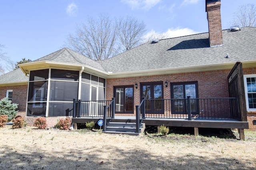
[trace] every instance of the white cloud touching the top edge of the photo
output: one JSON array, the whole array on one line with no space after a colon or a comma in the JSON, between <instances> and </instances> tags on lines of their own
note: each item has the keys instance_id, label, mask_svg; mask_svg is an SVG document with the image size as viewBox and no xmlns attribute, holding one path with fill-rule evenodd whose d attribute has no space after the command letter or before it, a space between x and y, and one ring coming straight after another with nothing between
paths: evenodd
<instances>
[{"instance_id":1,"label":"white cloud touching the top edge of the photo","mask_svg":"<svg viewBox=\"0 0 256 170\"><path fill-rule=\"evenodd\" d=\"M150 10L160 2L160 0L121 0L133 9Z\"/></svg>"}]
</instances>

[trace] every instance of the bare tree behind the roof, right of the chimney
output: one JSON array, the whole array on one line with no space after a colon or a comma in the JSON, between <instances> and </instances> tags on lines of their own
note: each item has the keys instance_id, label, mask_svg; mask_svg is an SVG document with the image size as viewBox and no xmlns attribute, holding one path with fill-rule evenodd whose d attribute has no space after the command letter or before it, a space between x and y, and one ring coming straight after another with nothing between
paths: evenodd
<instances>
[{"instance_id":1,"label":"bare tree behind the roof, right of the chimney","mask_svg":"<svg viewBox=\"0 0 256 170\"><path fill-rule=\"evenodd\" d=\"M254 4L240 6L234 16L234 25L256 27L256 7Z\"/></svg>"}]
</instances>

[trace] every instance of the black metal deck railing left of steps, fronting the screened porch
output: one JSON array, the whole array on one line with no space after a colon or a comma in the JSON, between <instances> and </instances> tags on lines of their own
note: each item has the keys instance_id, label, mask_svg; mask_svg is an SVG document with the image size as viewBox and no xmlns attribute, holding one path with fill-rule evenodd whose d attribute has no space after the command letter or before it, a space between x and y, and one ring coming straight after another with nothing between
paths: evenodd
<instances>
[{"instance_id":1,"label":"black metal deck railing left of steps, fronting the screened porch","mask_svg":"<svg viewBox=\"0 0 256 170\"><path fill-rule=\"evenodd\" d=\"M112 100L82 101L73 100L73 117L103 117L104 106Z\"/></svg>"}]
</instances>

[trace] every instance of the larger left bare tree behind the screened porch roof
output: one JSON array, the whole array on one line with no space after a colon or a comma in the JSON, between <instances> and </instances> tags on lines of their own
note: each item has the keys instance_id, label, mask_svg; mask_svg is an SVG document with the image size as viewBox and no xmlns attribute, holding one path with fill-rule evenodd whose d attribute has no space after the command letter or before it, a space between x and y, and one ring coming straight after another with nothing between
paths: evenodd
<instances>
[{"instance_id":1,"label":"larger left bare tree behind the screened porch roof","mask_svg":"<svg viewBox=\"0 0 256 170\"><path fill-rule=\"evenodd\" d=\"M75 35L68 36L68 47L92 60L104 60L116 55L113 21L106 15L98 20L88 18L86 24L77 27Z\"/></svg>"}]
</instances>

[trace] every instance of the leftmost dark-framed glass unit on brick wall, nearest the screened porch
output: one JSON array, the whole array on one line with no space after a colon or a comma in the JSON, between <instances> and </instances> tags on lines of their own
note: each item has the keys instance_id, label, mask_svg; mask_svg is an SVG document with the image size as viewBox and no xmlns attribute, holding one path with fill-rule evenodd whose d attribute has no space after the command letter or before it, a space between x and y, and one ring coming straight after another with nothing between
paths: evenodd
<instances>
[{"instance_id":1,"label":"leftmost dark-framed glass unit on brick wall, nearest the screened porch","mask_svg":"<svg viewBox=\"0 0 256 170\"><path fill-rule=\"evenodd\" d=\"M116 112L133 113L133 86L119 86L114 88L116 98Z\"/></svg>"}]
</instances>

